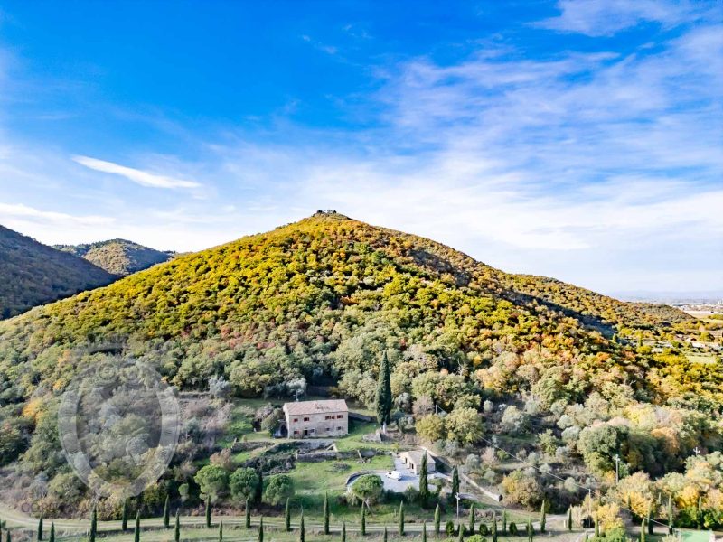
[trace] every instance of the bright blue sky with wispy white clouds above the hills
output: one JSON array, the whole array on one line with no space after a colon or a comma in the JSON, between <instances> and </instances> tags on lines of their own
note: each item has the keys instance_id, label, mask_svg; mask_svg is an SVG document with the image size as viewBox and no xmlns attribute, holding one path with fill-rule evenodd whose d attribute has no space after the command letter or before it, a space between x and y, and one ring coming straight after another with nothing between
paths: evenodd
<instances>
[{"instance_id":1,"label":"bright blue sky with wispy white clouds above the hills","mask_svg":"<svg viewBox=\"0 0 723 542\"><path fill-rule=\"evenodd\" d=\"M0 224L194 250L335 209L723 290L720 2L6 2Z\"/></svg>"}]
</instances>

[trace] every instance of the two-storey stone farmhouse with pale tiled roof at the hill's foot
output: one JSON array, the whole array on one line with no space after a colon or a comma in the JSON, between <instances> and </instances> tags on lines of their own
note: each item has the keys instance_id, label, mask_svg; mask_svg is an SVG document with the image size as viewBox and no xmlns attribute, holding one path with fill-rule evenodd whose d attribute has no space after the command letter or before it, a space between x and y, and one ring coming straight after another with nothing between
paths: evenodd
<instances>
[{"instance_id":1,"label":"two-storey stone farmhouse with pale tiled roof at the hill's foot","mask_svg":"<svg viewBox=\"0 0 723 542\"><path fill-rule=\"evenodd\" d=\"M343 399L286 403L284 415L289 438L324 438L349 433L349 408Z\"/></svg>"}]
</instances>

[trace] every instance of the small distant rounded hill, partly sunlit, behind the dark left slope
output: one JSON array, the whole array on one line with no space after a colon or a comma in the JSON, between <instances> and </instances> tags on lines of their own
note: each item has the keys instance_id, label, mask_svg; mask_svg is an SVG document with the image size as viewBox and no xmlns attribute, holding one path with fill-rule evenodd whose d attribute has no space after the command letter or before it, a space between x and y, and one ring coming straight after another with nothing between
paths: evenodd
<instances>
[{"instance_id":1,"label":"small distant rounded hill, partly sunlit, behind the dark left slope","mask_svg":"<svg viewBox=\"0 0 723 542\"><path fill-rule=\"evenodd\" d=\"M55 245L55 248L87 259L108 273L120 276L143 271L174 257L173 252L162 252L126 239L110 239L82 245Z\"/></svg>"}]
</instances>

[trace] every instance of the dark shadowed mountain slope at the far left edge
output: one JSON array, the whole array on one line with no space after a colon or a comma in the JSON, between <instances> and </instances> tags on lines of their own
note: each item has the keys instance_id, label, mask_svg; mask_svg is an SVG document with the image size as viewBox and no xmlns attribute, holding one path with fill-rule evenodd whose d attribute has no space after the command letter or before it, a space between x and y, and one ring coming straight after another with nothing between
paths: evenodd
<instances>
[{"instance_id":1,"label":"dark shadowed mountain slope at the far left edge","mask_svg":"<svg viewBox=\"0 0 723 542\"><path fill-rule=\"evenodd\" d=\"M80 257L0 226L0 318L116 279Z\"/></svg>"}]
</instances>

